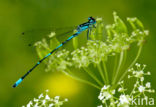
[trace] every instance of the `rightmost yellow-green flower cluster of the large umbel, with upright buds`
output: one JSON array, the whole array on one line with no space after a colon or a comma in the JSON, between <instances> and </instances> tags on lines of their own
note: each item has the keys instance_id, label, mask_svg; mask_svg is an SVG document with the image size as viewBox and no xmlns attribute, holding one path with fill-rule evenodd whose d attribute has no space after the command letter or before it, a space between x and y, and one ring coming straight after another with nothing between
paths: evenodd
<instances>
[{"instance_id":1,"label":"rightmost yellow-green flower cluster of the large umbel, with upright buds","mask_svg":"<svg viewBox=\"0 0 156 107\"><path fill-rule=\"evenodd\" d=\"M115 52L121 52L129 48L133 42L142 45L144 38L148 35L148 30L144 30L144 26L137 18L127 18L132 27L132 31L127 30L125 23L114 12L114 24L107 25L107 42Z\"/></svg>"}]
</instances>

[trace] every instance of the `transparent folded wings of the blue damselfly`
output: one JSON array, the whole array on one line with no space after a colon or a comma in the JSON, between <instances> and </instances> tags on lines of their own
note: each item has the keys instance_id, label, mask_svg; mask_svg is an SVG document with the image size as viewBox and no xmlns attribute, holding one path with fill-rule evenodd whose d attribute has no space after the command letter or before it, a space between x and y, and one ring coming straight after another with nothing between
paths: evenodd
<instances>
[{"instance_id":1,"label":"transparent folded wings of the blue damselfly","mask_svg":"<svg viewBox=\"0 0 156 107\"><path fill-rule=\"evenodd\" d=\"M33 44L37 41L42 40L43 38L47 39L49 38L49 35L51 33L55 33L55 37L59 40L63 40L66 37L71 36L73 33L73 30L76 27L62 27L62 28L37 28L37 29L31 29L26 30L20 34L20 39L24 43L24 45L27 46L33 46Z\"/></svg>"}]
</instances>

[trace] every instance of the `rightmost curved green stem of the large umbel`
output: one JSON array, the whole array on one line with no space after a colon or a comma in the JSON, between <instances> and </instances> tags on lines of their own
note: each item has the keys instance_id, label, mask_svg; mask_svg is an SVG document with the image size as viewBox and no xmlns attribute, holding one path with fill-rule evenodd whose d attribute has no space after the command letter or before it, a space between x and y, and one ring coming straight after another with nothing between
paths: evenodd
<instances>
[{"instance_id":1,"label":"rightmost curved green stem of the large umbel","mask_svg":"<svg viewBox=\"0 0 156 107\"><path fill-rule=\"evenodd\" d=\"M121 76L121 78L119 79L119 81L121 81L121 80L126 76L126 74L128 73L128 70L136 63L136 61L138 60L138 58L139 58L139 56L140 56L140 54L141 54L141 51L142 51L142 45L139 47L135 59L134 59L133 62L130 64L130 66L126 69L126 71L123 73L123 75ZM118 81L118 82L119 82L119 81ZM117 86L117 85L116 85L116 86ZM115 87L116 87L116 86L115 86Z\"/></svg>"}]
</instances>

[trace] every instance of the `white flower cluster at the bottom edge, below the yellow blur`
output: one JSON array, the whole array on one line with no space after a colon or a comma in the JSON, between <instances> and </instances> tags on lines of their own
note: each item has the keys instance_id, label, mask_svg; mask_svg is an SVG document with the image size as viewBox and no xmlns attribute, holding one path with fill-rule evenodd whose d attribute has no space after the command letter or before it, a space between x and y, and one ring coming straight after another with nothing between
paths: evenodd
<instances>
[{"instance_id":1,"label":"white flower cluster at the bottom edge, below the yellow blur","mask_svg":"<svg viewBox=\"0 0 156 107\"><path fill-rule=\"evenodd\" d=\"M38 98L34 98L33 101L30 101L26 106L22 107L60 107L64 102L67 102L68 99L64 99L60 101L60 97L56 96L54 98L50 98L48 95L48 90L46 90L45 94L40 94Z\"/></svg>"}]
</instances>

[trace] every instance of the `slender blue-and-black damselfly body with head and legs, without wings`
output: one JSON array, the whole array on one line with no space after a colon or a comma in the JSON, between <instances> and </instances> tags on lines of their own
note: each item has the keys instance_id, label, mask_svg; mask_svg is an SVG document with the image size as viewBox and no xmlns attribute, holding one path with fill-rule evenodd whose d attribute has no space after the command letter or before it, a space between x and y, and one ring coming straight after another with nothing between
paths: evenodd
<instances>
[{"instance_id":1,"label":"slender blue-and-black damselfly body with head and legs, without wings","mask_svg":"<svg viewBox=\"0 0 156 107\"><path fill-rule=\"evenodd\" d=\"M13 88L17 87L26 76L28 76L29 73L31 73L40 63L48 58L48 56L52 55L55 51L57 51L60 47L62 47L64 44L66 44L68 41L70 41L72 38L78 36L81 32L87 31L87 39L89 39L89 32L93 27L95 27L96 20L93 17L88 18L88 22L85 22L83 24L80 24L77 26L77 32L74 33L72 36L70 36L68 39L66 39L64 42L62 42L59 46L57 46L55 49L53 49L50 53L48 53L44 58L39 60L28 72L26 72L19 80L16 81L16 83L13 85Z\"/></svg>"}]
</instances>

